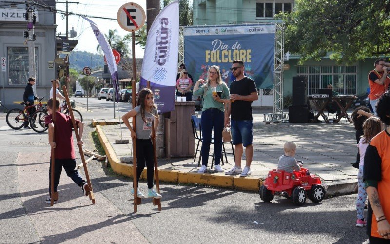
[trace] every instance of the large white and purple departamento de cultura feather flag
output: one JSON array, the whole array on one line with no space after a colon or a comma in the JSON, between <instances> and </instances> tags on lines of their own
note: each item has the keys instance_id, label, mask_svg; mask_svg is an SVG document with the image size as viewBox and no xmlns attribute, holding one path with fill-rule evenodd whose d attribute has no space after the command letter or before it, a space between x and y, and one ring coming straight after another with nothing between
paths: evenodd
<instances>
[{"instance_id":1,"label":"large white and purple departamento de cultura feather flag","mask_svg":"<svg viewBox=\"0 0 390 244\"><path fill-rule=\"evenodd\" d=\"M168 4L153 21L146 39L139 88L146 81L155 94L158 113L175 110L179 55L179 3Z\"/></svg>"}]
</instances>

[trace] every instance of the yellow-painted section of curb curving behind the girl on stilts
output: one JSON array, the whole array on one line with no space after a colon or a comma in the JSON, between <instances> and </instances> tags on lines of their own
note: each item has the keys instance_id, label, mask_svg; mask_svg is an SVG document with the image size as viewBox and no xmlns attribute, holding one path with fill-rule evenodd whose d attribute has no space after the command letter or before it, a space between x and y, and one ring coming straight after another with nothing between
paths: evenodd
<instances>
[{"instance_id":1,"label":"yellow-painted section of curb curving behind the girl on stilts","mask_svg":"<svg viewBox=\"0 0 390 244\"><path fill-rule=\"evenodd\" d=\"M119 175L133 177L133 166L126 163L121 163L115 154L114 148L111 146L101 126L106 125L105 122L92 121L96 127L96 132L100 144L103 146L107 155L107 159L113 171ZM183 172L173 169L159 169L158 177L162 182L184 183L184 184L201 184L211 185L224 188L236 188L240 190L259 191L262 179L239 176L225 175L223 172L215 174L198 174L192 172ZM146 179L146 169L142 172L141 179Z\"/></svg>"}]
</instances>

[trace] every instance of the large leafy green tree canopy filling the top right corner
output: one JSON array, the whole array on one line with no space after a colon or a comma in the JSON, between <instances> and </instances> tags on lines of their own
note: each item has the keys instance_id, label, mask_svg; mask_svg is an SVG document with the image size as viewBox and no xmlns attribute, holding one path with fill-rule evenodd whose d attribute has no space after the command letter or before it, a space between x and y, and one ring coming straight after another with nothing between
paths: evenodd
<instances>
[{"instance_id":1,"label":"large leafy green tree canopy filling the top right corner","mask_svg":"<svg viewBox=\"0 0 390 244\"><path fill-rule=\"evenodd\" d=\"M286 24L285 50L319 60L330 52L338 64L390 53L390 2L296 0L292 13L276 16Z\"/></svg>"}]
</instances>

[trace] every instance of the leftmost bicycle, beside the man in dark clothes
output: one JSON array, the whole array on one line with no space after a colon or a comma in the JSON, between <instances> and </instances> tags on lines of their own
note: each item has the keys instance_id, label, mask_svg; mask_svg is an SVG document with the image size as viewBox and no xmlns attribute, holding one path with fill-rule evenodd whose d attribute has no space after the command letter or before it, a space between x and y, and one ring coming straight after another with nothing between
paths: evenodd
<instances>
[{"instance_id":1,"label":"leftmost bicycle, beside the man in dark clothes","mask_svg":"<svg viewBox=\"0 0 390 244\"><path fill-rule=\"evenodd\" d=\"M28 124L30 122L30 118L34 118L33 116L30 116L30 113L28 112L28 109L37 106L37 111L46 111L46 108L42 104L42 100L45 98L38 98L39 104L37 105L31 105L27 106L24 102L21 102L20 105L24 105L24 109L21 110L19 108L14 108L8 111L5 121L7 122L8 126L11 127L14 130L19 130L21 127L23 127L24 124ZM35 112L37 113L37 112ZM34 114L35 114L34 113ZM34 115L33 114L33 115ZM26 123L27 122L27 123Z\"/></svg>"}]
</instances>

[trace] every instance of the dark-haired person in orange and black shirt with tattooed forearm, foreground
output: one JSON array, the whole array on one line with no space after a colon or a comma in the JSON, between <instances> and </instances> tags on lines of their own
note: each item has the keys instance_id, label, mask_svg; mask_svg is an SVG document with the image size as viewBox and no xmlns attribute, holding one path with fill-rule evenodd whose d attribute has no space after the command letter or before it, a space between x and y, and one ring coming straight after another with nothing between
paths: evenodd
<instances>
[{"instance_id":1,"label":"dark-haired person in orange and black shirt with tattooed forearm, foreground","mask_svg":"<svg viewBox=\"0 0 390 244\"><path fill-rule=\"evenodd\" d=\"M370 244L390 243L390 91L378 100L376 111L388 127L366 149L363 182L369 197L367 234Z\"/></svg>"}]
</instances>

